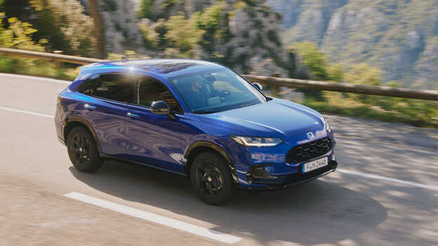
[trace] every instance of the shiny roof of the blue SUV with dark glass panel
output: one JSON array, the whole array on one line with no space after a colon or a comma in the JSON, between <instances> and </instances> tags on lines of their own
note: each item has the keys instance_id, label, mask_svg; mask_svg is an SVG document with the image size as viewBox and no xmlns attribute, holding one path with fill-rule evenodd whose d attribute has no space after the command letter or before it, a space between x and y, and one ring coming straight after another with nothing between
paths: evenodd
<instances>
[{"instance_id":1,"label":"shiny roof of the blue SUV with dark glass panel","mask_svg":"<svg viewBox=\"0 0 438 246\"><path fill-rule=\"evenodd\" d=\"M211 69L224 68L220 64L206 62L201 60L188 59L148 59L148 60L118 60L93 63L85 66L84 69L100 69L105 67L105 70L111 67L134 67L143 71L148 71L157 76L170 78L184 74L192 74L198 71L206 71Z\"/></svg>"}]
</instances>

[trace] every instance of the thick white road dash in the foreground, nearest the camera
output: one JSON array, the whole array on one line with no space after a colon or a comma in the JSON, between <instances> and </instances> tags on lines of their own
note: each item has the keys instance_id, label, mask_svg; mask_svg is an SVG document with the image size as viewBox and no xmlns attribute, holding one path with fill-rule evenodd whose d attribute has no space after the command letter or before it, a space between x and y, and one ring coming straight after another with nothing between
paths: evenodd
<instances>
[{"instance_id":1,"label":"thick white road dash in the foreground, nearest the camera","mask_svg":"<svg viewBox=\"0 0 438 246\"><path fill-rule=\"evenodd\" d=\"M200 235L205 238L210 238L217 240L219 242L225 242L232 244L234 242L239 242L242 238L236 237L234 235L220 233L218 231L213 231L201 226L195 226L193 224L185 223L183 221L178 221L176 219L167 218L158 214L152 214L150 212L145 212L142 210L135 209L133 207L128 207L125 205L120 205L117 203L112 203L107 200L102 200L99 198L94 198L93 196L87 196L82 193L72 192L63 195L67 198L72 198L74 200L80 200L81 202L95 205L98 207L106 208L107 210L113 210L121 214L126 214L135 218L144 219L157 224L168 226L171 228L178 229L180 231L185 231L188 233L193 233L195 235Z\"/></svg>"}]
</instances>

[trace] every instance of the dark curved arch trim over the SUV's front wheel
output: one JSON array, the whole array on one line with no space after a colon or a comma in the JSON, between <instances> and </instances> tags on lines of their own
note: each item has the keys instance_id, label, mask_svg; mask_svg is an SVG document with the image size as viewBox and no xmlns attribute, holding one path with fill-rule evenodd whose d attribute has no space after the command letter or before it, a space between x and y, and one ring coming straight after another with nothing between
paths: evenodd
<instances>
[{"instance_id":1,"label":"dark curved arch trim over the SUV's front wheel","mask_svg":"<svg viewBox=\"0 0 438 246\"><path fill-rule=\"evenodd\" d=\"M225 160L225 163L227 163L228 167L231 170L231 175L234 183L239 184L237 171L236 168L234 168L234 163L232 163L230 156L220 146L218 146L218 144L213 144L212 142L207 142L207 141L194 142L193 144L187 147L183 159L184 172L187 176L190 177L190 169L192 167L194 158L196 158L199 155L199 153L203 153L205 151L213 151L215 153L218 153L220 156L222 156Z\"/></svg>"}]
</instances>

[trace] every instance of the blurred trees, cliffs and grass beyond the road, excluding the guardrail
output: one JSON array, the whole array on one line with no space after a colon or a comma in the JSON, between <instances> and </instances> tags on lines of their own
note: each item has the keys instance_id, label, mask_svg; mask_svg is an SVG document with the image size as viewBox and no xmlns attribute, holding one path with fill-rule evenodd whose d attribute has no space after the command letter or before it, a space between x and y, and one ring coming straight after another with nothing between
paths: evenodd
<instances>
[{"instance_id":1,"label":"blurred trees, cliffs and grass beyond the road, excluding the guardrail","mask_svg":"<svg viewBox=\"0 0 438 246\"><path fill-rule=\"evenodd\" d=\"M209 60L241 74L438 90L437 0L0 0L0 46L81 57ZM74 64L0 56L72 81ZM438 103L279 88L328 114L438 128Z\"/></svg>"}]
</instances>

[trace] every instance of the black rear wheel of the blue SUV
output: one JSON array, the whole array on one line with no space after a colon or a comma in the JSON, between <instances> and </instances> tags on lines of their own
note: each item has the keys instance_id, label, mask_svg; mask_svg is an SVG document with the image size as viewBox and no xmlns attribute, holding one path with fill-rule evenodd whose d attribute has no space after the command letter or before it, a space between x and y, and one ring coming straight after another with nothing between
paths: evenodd
<instances>
[{"instance_id":1,"label":"black rear wheel of the blue SUV","mask_svg":"<svg viewBox=\"0 0 438 246\"><path fill-rule=\"evenodd\" d=\"M93 137L81 126L69 132L67 151L74 168L81 172L95 172L102 167L103 161Z\"/></svg>"}]
</instances>

